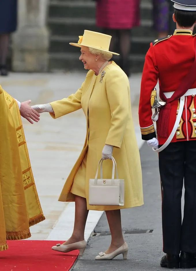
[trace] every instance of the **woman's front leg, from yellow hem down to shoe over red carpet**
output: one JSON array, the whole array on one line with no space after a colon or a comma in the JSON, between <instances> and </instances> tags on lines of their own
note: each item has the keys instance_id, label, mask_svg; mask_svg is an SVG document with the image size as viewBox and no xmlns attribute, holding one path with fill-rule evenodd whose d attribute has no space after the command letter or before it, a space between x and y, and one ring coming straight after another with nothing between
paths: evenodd
<instances>
[{"instance_id":1,"label":"woman's front leg, from yellow hem down to shoe over red carpet","mask_svg":"<svg viewBox=\"0 0 196 271\"><path fill-rule=\"evenodd\" d=\"M75 221L73 227L73 233L71 237L63 243L64 245L76 243L84 240L84 229L86 225L86 219L88 216L88 210L86 207L86 199L84 197L75 196Z\"/></svg>"}]
</instances>

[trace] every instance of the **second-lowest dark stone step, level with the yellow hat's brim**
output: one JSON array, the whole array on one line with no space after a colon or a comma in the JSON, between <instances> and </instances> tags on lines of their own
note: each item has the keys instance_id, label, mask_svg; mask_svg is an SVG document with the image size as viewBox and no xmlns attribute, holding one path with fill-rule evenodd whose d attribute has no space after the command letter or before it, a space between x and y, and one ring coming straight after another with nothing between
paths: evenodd
<instances>
[{"instance_id":1,"label":"second-lowest dark stone step, level with the yellow hat's brim","mask_svg":"<svg viewBox=\"0 0 196 271\"><path fill-rule=\"evenodd\" d=\"M149 49L150 42L153 40L154 37L132 37L130 40L132 54L145 54ZM74 46L70 46L69 42L78 41L76 41L75 36L51 36L50 52L76 52L76 48Z\"/></svg>"}]
</instances>

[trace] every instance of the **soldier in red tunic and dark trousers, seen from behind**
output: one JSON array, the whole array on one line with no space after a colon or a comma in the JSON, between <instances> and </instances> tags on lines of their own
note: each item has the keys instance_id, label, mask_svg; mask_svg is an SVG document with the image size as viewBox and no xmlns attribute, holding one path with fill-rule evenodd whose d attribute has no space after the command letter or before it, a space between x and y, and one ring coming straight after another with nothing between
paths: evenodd
<instances>
[{"instance_id":1,"label":"soldier in red tunic and dark trousers, seen from behind","mask_svg":"<svg viewBox=\"0 0 196 271\"><path fill-rule=\"evenodd\" d=\"M142 139L159 153L166 253L161 266L193 268L196 267L196 35L193 35L196 0L171 1L177 29L174 35L150 44L142 75L139 118ZM160 102L156 91L152 91L158 80ZM152 116L151 107L157 108L158 114ZM152 119L157 121L158 138Z\"/></svg>"}]
</instances>

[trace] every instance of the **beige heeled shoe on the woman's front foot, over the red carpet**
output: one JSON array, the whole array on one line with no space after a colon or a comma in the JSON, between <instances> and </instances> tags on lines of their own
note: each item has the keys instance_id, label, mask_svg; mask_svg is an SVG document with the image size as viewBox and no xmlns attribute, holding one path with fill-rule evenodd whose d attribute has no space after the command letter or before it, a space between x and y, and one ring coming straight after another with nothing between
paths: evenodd
<instances>
[{"instance_id":1,"label":"beige heeled shoe on the woman's front foot, over the red carpet","mask_svg":"<svg viewBox=\"0 0 196 271\"><path fill-rule=\"evenodd\" d=\"M56 244L56 246L52 246L53 250L60 251L60 252L69 252L75 249L79 250L79 256L82 256L84 253L84 250L86 249L86 241L80 241L76 243L72 243L69 245L61 245L61 244Z\"/></svg>"}]
</instances>

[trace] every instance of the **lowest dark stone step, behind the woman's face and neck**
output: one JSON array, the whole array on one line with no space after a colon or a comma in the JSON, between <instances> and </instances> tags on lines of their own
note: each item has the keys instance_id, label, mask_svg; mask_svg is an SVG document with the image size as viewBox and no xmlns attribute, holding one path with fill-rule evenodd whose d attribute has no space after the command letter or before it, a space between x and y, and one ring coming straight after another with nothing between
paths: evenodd
<instances>
[{"instance_id":1,"label":"lowest dark stone step, behind the woman's face and neck","mask_svg":"<svg viewBox=\"0 0 196 271\"><path fill-rule=\"evenodd\" d=\"M83 71L84 65L81 61L79 61L80 53L50 53L50 63L49 69L50 71L71 71L78 70ZM144 58L143 54L133 54L130 55L131 60L131 72L141 72L144 66ZM113 58L114 61L118 60L118 57Z\"/></svg>"}]
</instances>

